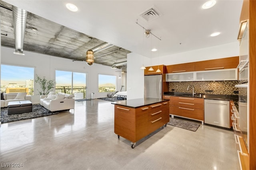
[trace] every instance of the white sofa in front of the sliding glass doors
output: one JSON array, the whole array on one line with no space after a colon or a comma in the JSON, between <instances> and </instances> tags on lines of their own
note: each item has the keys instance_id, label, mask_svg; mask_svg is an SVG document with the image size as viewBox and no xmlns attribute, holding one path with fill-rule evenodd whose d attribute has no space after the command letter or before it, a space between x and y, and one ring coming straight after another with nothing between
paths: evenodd
<instances>
[{"instance_id":1,"label":"white sofa in front of the sliding glass doors","mask_svg":"<svg viewBox=\"0 0 256 170\"><path fill-rule=\"evenodd\" d=\"M50 111L69 110L75 108L74 95L70 94L55 94L51 92L48 95L40 96L40 105Z\"/></svg>"}]
</instances>

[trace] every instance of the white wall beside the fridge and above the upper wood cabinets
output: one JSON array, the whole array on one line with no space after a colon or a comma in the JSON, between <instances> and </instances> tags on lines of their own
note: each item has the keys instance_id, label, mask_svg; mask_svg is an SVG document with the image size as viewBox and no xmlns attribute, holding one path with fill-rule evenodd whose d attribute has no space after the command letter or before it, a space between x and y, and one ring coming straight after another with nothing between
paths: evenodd
<instances>
[{"instance_id":1,"label":"white wall beside the fridge and above the upper wood cabinets","mask_svg":"<svg viewBox=\"0 0 256 170\"><path fill-rule=\"evenodd\" d=\"M144 97L144 70L140 70L142 64L144 64L144 66L161 64L172 65L234 57L238 55L238 42L168 55L160 57L159 59L157 57L152 59L152 61L148 57L143 57L136 53L129 53L127 55L127 99Z\"/></svg>"}]
</instances>

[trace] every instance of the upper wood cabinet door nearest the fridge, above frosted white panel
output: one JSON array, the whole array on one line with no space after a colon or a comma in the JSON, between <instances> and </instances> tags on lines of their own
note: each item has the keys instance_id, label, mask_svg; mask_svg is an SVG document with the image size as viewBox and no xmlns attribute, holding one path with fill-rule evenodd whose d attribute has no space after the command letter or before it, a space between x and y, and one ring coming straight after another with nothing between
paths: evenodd
<instances>
[{"instance_id":1,"label":"upper wood cabinet door nearest the fridge, above frosted white panel","mask_svg":"<svg viewBox=\"0 0 256 170\"><path fill-rule=\"evenodd\" d=\"M195 63L174 64L166 66L166 73L195 71Z\"/></svg>"}]
</instances>

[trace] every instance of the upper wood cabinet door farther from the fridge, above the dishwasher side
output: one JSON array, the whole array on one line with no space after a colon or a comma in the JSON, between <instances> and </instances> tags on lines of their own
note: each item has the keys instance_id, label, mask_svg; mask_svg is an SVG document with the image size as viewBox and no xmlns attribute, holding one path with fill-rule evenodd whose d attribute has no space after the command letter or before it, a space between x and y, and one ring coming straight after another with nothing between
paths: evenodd
<instances>
[{"instance_id":1,"label":"upper wood cabinet door farther from the fridge, above the dishwasher side","mask_svg":"<svg viewBox=\"0 0 256 170\"><path fill-rule=\"evenodd\" d=\"M239 56L195 62L196 71L236 68Z\"/></svg>"}]
</instances>

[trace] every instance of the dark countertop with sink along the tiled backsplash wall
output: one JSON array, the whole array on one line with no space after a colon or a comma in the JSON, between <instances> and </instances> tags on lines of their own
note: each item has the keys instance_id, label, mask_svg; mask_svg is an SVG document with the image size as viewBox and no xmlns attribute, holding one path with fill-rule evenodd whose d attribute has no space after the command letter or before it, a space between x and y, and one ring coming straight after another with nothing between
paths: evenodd
<instances>
[{"instance_id":1,"label":"dark countertop with sink along the tiled backsplash wall","mask_svg":"<svg viewBox=\"0 0 256 170\"><path fill-rule=\"evenodd\" d=\"M185 93L185 92L164 92L164 95L169 96L181 96L181 97L193 97L191 93ZM194 98L202 98L202 99L210 99L210 100L226 100L226 101L234 101L238 102L238 95L227 95L227 94L195 94Z\"/></svg>"}]
</instances>

